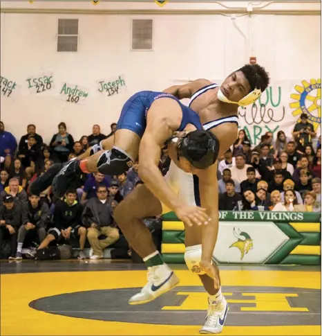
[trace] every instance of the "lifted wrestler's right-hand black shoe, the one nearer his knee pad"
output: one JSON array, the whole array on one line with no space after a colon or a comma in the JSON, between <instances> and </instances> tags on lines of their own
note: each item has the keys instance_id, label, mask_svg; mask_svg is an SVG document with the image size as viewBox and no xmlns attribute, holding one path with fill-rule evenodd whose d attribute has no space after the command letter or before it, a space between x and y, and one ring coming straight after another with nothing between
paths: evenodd
<instances>
[{"instance_id":1,"label":"lifted wrestler's right-hand black shoe, the one nearer his knee pad","mask_svg":"<svg viewBox=\"0 0 322 336\"><path fill-rule=\"evenodd\" d=\"M74 187L79 174L82 171L79 169L79 160L71 160L64 164L59 173L53 179L53 194L56 197L63 197L70 187Z\"/></svg>"}]
</instances>

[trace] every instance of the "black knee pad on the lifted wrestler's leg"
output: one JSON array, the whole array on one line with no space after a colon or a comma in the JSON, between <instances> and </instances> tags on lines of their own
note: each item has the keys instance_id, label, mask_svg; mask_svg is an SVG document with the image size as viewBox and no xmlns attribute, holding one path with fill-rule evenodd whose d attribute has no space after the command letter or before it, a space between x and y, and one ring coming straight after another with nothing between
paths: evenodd
<instances>
[{"instance_id":1,"label":"black knee pad on the lifted wrestler's leg","mask_svg":"<svg viewBox=\"0 0 322 336\"><path fill-rule=\"evenodd\" d=\"M97 161L97 170L104 175L121 175L133 166L133 161L123 152L106 150Z\"/></svg>"}]
</instances>

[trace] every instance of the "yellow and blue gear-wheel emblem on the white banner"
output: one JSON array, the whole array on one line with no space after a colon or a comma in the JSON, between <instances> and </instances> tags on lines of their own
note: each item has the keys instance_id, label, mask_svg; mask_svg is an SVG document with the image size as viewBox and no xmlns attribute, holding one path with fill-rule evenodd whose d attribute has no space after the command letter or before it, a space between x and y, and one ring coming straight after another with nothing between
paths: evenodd
<instances>
[{"instance_id":1,"label":"yellow and blue gear-wheel emblem on the white banner","mask_svg":"<svg viewBox=\"0 0 322 336\"><path fill-rule=\"evenodd\" d=\"M321 125L321 78L311 79L310 82L302 80L302 85L295 85L294 89L298 93L291 94L291 98L296 101L290 103L290 107L294 109L293 116L307 114L314 130L317 130Z\"/></svg>"}]
</instances>

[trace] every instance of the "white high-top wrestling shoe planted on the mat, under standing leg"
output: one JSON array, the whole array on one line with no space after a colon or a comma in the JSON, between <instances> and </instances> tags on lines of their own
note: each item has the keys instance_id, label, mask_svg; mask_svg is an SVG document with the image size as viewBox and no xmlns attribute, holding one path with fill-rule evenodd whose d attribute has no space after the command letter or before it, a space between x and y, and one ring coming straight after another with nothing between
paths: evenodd
<instances>
[{"instance_id":1,"label":"white high-top wrestling shoe planted on the mat, under standing leg","mask_svg":"<svg viewBox=\"0 0 322 336\"><path fill-rule=\"evenodd\" d=\"M200 330L200 334L219 334L224 328L228 312L228 303L225 297L216 303L209 302L206 323Z\"/></svg>"}]
</instances>

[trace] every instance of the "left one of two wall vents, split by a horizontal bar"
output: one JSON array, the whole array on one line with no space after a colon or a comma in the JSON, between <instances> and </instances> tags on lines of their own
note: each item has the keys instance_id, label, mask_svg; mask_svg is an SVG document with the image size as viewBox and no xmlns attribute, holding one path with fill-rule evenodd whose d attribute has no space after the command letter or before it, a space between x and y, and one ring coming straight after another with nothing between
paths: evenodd
<instances>
[{"instance_id":1,"label":"left one of two wall vents, split by a horizontal bar","mask_svg":"<svg viewBox=\"0 0 322 336\"><path fill-rule=\"evenodd\" d=\"M78 19L58 19L57 51L77 51Z\"/></svg>"}]
</instances>

